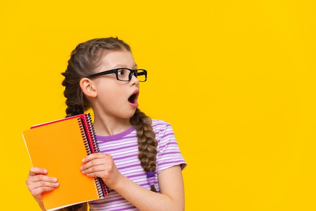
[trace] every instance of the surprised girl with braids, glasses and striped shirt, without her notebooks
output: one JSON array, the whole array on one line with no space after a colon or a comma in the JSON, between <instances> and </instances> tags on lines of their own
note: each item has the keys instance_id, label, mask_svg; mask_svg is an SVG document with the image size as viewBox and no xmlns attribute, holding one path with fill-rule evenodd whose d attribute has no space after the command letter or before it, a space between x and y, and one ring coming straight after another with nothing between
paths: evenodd
<instances>
[{"instance_id":1,"label":"surprised girl with braids, glasses and striped shirt, without her notebooks","mask_svg":"<svg viewBox=\"0 0 316 211\"><path fill-rule=\"evenodd\" d=\"M184 210L186 162L171 125L138 109L139 82L146 81L147 71L138 69L130 46L113 37L81 43L63 76L67 117L90 108L94 114L100 152L84 157L80 170L110 188L104 199L89 202L90 210ZM59 186L47 171L32 167L26 180L42 210L42 193Z\"/></svg>"}]
</instances>

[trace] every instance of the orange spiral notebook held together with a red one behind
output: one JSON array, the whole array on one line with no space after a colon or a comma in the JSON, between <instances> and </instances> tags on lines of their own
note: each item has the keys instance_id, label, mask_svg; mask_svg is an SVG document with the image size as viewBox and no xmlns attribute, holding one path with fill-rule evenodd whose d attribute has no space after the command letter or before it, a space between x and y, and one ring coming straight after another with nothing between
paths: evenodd
<instances>
[{"instance_id":1,"label":"orange spiral notebook held together with a red one behind","mask_svg":"<svg viewBox=\"0 0 316 211\"><path fill-rule=\"evenodd\" d=\"M81 160L98 152L90 114L82 114L32 126L23 132L32 165L47 169L59 187L43 193L44 207L51 211L104 198L108 187L101 178L82 174Z\"/></svg>"}]
</instances>

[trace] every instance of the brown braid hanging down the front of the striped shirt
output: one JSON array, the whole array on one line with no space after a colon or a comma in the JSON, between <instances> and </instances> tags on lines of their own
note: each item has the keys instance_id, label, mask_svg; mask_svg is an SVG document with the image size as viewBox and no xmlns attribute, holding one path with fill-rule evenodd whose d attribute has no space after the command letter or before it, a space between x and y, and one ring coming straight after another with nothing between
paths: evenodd
<instances>
[{"instance_id":1,"label":"brown braid hanging down the front of the striped shirt","mask_svg":"<svg viewBox=\"0 0 316 211\"><path fill-rule=\"evenodd\" d=\"M134 116L131 118L131 124L135 127L138 137L140 165L145 172L154 172L156 170L157 140L151 127L151 119L139 109L136 109ZM156 192L153 185L151 185L151 190Z\"/></svg>"}]
</instances>

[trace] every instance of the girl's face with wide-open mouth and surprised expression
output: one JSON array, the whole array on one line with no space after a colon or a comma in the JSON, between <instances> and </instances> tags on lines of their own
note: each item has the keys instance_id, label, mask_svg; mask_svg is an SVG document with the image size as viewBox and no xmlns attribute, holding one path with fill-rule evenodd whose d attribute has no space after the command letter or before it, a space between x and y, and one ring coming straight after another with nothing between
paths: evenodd
<instances>
[{"instance_id":1,"label":"girl's face with wide-open mouth and surprised expression","mask_svg":"<svg viewBox=\"0 0 316 211\"><path fill-rule=\"evenodd\" d=\"M110 51L102 58L96 72L117 68L137 69L133 55L127 50ZM94 100L94 114L106 115L110 118L129 119L138 107L139 81L133 75L130 81L119 81L116 74L102 75L92 78L97 92Z\"/></svg>"}]
</instances>

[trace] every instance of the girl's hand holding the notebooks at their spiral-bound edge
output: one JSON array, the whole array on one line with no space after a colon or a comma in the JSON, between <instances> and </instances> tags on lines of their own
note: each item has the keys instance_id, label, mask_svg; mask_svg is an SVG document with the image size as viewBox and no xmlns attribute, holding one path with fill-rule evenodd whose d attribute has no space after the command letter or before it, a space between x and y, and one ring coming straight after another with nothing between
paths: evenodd
<instances>
[{"instance_id":1,"label":"girl's hand holding the notebooks at their spiral-bound edge","mask_svg":"<svg viewBox=\"0 0 316 211\"><path fill-rule=\"evenodd\" d=\"M118 180L122 176L110 154L101 152L89 154L82 159L82 162L84 164L80 170L83 174L88 177L100 177L112 189L114 189L115 184L118 184Z\"/></svg>"}]
</instances>

